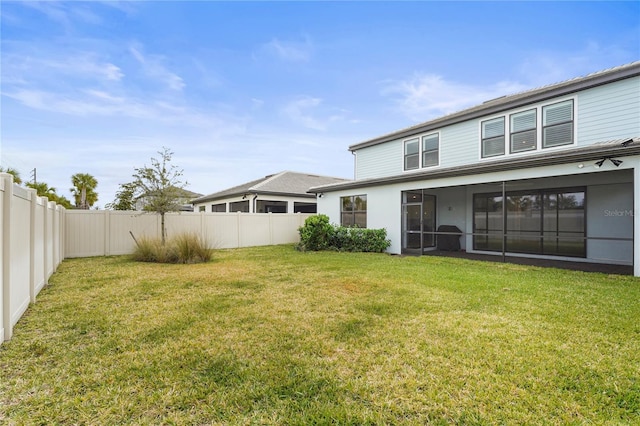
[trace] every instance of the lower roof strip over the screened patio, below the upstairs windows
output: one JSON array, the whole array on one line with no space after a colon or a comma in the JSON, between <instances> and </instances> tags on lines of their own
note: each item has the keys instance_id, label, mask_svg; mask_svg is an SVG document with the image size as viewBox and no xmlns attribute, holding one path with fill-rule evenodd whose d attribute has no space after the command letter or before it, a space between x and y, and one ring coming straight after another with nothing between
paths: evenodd
<instances>
[{"instance_id":1,"label":"lower roof strip over the screened patio, below the upstairs windows","mask_svg":"<svg viewBox=\"0 0 640 426\"><path fill-rule=\"evenodd\" d=\"M543 152L508 160L493 160L481 163L473 163L465 166L444 167L439 169L425 169L419 172L403 173L400 175L380 178L352 180L344 183L316 186L309 192L318 194L321 192L333 192L344 189L366 188L369 186L389 185L400 182L412 182L417 180L441 179L456 176L471 176L484 173L519 170L526 167L543 167L572 162L597 161L603 158L625 157L640 155L640 136L627 139L602 141L579 148L563 151Z\"/></svg>"}]
</instances>

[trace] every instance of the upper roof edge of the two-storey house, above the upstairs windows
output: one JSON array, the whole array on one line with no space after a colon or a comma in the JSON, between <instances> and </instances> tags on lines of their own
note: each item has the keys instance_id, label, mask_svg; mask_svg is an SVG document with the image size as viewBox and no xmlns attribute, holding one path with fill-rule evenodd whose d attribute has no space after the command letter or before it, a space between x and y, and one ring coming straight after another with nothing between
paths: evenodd
<instances>
[{"instance_id":1,"label":"upper roof edge of the two-storey house, above the upstairs windows","mask_svg":"<svg viewBox=\"0 0 640 426\"><path fill-rule=\"evenodd\" d=\"M539 87L537 89L527 90L525 92L516 93L509 96L501 96L496 99L489 100L480 105L467 108L465 110L445 115L406 129L398 130L368 141L356 143L349 147L349 151L356 151L373 145L389 142L415 135L417 133L436 130L444 126L460 123L466 120L472 120L486 115L497 114L499 112L518 108L534 102L541 102L558 96L564 96L580 90L589 89L603 84L612 83L614 81L623 80L630 77L640 75L640 61L636 61L627 65L610 68L604 71L598 71L584 77L576 77L561 83L550 84L548 86Z\"/></svg>"}]
</instances>

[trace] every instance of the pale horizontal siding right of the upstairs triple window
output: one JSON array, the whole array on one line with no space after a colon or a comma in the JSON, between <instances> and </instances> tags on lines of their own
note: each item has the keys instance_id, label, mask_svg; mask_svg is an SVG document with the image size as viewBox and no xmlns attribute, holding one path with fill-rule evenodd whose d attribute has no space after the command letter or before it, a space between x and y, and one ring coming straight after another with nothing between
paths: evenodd
<instances>
[{"instance_id":1,"label":"pale horizontal siding right of the upstairs triple window","mask_svg":"<svg viewBox=\"0 0 640 426\"><path fill-rule=\"evenodd\" d=\"M576 116L578 145L640 136L640 77L581 92Z\"/></svg>"}]
</instances>

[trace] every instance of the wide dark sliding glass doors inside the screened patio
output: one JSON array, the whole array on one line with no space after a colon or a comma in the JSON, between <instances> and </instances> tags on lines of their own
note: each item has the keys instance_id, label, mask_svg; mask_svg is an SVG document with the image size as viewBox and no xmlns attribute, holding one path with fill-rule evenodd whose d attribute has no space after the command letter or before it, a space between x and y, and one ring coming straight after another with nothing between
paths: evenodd
<instances>
[{"instance_id":1,"label":"wide dark sliding glass doors inside the screened patio","mask_svg":"<svg viewBox=\"0 0 640 426\"><path fill-rule=\"evenodd\" d=\"M548 189L473 197L473 248L512 253L586 257L585 189Z\"/></svg>"}]
</instances>

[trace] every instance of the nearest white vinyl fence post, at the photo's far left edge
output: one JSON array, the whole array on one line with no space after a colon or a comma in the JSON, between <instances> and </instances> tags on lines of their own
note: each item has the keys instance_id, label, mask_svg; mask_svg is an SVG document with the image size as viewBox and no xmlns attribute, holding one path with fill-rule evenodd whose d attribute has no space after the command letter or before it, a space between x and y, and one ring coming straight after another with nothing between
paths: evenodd
<instances>
[{"instance_id":1,"label":"nearest white vinyl fence post, at the photo's far left edge","mask_svg":"<svg viewBox=\"0 0 640 426\"><path fill-rule=\"evenodd\" d=\"M13 176L0 173L4 181L2 194L2 330L3 340L11 339L11 203L13 202Z\"/></svg>"}]
</instances>

